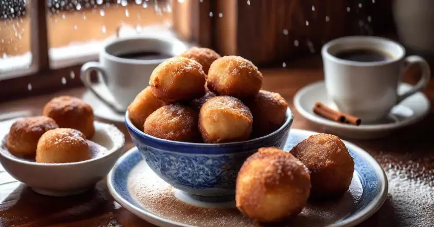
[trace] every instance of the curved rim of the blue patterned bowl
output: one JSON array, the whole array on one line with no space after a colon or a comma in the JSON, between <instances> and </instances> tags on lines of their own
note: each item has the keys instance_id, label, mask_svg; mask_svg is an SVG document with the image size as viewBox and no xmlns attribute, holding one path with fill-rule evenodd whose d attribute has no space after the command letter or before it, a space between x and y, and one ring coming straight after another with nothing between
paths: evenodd
<instances>
[{"instance_id":1,"label":"curved rim of the blue patterned bowl","mask_svg":"<svg viewBox=\"0 0 434 227\"><path fill-rule=\"evenodd\" d=\"M285 119L285 122L281 125L281 127L279 129L277 129L276 131L274 131L274 132L272 132L270 134L267 134L265 136L261 136L261 137L258 137L258 138L254 138L254 139L250 139L250 140L245 140L245 141L228 142L228 143L193 143L193 142L181 142L181 141L161 139L161 138L158 138L158 137L155 137L155 136L148 135L148 134L140 131L139 129L137 129L134 126L134 124L131 122L131 120L130 120L128 110L125 112L125 123L127 125L127 128L129 130L134 131L135 133L139 134L142 137L147 137L149 139L156 140L158 142L170 143L170 144L173 144L173 145L190 145L190 146L198 146L198 147L214 147L214 146L224 146L224 145L242 145L242 144L248 143L248 142L255 142L255 141L267 139L267 138L272 137L272 136L280 133L281 131L283 131L283 129L285 129L286 127L290 126L293 121L294 121L294 113L291 111L290 108L287 108L286 109L286 119Z\"/></svg>"}]
</instances>

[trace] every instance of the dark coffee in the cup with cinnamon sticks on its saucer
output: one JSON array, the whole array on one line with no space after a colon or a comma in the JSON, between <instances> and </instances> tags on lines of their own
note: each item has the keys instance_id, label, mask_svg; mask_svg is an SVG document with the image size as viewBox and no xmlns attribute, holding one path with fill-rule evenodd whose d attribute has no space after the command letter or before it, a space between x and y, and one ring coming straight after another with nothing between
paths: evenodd
<instances>
[{"instance_id":1,"label":"dark coffee in the cup with cinnamon sticks on its saucer","mask_svg":"<svg viewBox=\"0 0 434 227\"><path fill-rule=\"evenodd\" d=\"M339 52L334 56L355 62L381 62L392 60L392 56L373 49L349 49Z\"/></svg>"}]
</instances>

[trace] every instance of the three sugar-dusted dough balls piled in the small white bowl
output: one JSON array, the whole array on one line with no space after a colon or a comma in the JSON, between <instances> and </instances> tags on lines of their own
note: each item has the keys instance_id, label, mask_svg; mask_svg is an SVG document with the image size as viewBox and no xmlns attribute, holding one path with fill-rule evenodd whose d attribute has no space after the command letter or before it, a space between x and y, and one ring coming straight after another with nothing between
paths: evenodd
<instances>
[{"instance_id":1,"label":"three sugar-dusted dough balls piled in the small white bowl","mask_svg":"<svg viewBox=\"0 0 434 227\"><path fill-rule=\"evenodd\" d=\"M38 163L79 162L91 158L86 139L95 133L93 110L81 99L55 97L43 108L43 116L15 121L6 146L17 157Z\"/></svg>"}]
</instances>

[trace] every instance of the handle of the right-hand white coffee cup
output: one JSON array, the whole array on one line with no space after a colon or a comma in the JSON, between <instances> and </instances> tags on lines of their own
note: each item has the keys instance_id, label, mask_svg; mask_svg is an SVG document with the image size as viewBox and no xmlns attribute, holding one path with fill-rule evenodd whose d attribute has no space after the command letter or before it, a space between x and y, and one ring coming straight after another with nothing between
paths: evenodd
<instances>
[{"instance_id":1,"label":"handle of the right-hand white coffee cup","mask_svg":"<svg viewBox=\"0 0 434 227\"><path fill-rule=\"evenodd\" d=\"M428 85L428 82L431 79L431 69L429 68L428 62L426 62L425 59L416 55L408 56L404 59L405 68L408 68L413 64L420 65L422 69L422 77L412 89L404 92L403 94L398 94L397 103L402 102L402 100L408 96L411 96L414 93L422 90L424 87L426 87L426 85Z\"/></svg>"}]
</instances>

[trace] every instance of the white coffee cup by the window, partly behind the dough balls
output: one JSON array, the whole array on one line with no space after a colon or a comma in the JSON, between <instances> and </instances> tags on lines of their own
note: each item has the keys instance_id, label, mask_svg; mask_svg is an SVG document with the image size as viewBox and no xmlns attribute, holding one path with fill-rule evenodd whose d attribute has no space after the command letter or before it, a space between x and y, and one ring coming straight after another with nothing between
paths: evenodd
<instances>
[{"instance_id":1,"label":"white coffee cup by the window, partly behind the dough balls","mask_svg":"<svg viewBox=\"0 0 434 227\"><path fill-rule=\"evenodd\" d=\"M154 52L177 56L188 48L180 41L157 37L117 38L108 42L100 52L99 62L87 62L81 68L83 84L107 106L117 112L125 112L134 97L149 85L152 71L166 59L131 59L118 55ZM90 72L97 71L99 83L110 92L102 93L90 81ZM114 100L114 101L113 101Z\"/></svg>"}]
</instances>

